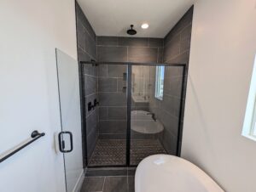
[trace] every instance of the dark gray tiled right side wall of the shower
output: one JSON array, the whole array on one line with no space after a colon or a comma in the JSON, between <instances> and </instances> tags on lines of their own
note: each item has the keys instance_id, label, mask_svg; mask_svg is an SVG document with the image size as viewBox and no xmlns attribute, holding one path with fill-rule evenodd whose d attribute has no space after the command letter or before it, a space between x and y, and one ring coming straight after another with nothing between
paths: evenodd
<instances>
[{"instance_id":1,"label":"dark gray tiled right side wall of the shower","mask_svg":"<svg viewBox=\"0 0 256 192\"><path fill-rule=\"evenodd\" d=\"M189 8L188 12L183 15L183 18L177 22L164 39L164 63L169 64L186 64L186 71L189 64L189 48L191 39L193 19L193 7ZM154 70L155 71L155 70ZM152 71L151 76L155 76ZM186 88L186 79L184 88ZM152 91L151 100L149 102L150 110L154 111L157 118L164 124L165 130L161 140L165 149L175 155L180 152L181 143L178 144L177 151L177 127L179 117L179 106L181 98L181 81L182 81L182 68L181 67L166 67L165 82L164 82L164 99L154 99L154 90ZM154 85L154 81L152 82ZM153 87L154 89L154 87ZM184 89L185 90L185 89ZM182 115L184 112L184 98L183 93L183 107ZM183 121L183 116L182 116ZM182 125L183 126L183 123ZM182 131L181 127L181 131ZM180 134L182 136L182 134ZM181 142L181 138L179 139Z\"/></svg>"}]
</instances>

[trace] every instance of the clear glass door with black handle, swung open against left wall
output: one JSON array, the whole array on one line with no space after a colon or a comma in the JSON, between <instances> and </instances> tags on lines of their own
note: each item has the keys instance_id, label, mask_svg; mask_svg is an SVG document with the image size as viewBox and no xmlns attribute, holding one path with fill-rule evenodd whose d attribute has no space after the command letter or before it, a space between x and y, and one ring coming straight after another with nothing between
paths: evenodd
<instances>
[{"instance_id":1,"label":"clear glass door with black handle, swung open against left wall","mask_svg":"<svg viewBox=\"0 0 256 192\"><path fill-rule=\"evenodd\" d=\"M61 131L73 134L73 150L64 153L67 192L73 191L83 171L78 62L56 49ZM62 134L62 150L71 149L71 139Z\"/></svg>"}]
</instances>

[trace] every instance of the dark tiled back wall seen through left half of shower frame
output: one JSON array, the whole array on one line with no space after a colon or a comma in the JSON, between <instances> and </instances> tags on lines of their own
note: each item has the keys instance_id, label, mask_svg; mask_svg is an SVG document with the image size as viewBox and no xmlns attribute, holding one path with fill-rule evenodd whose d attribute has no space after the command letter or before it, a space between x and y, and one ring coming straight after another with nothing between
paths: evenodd
<instances>
[{"instance_id":1,"label":"dark tiled back wall seen through left half of shower frame","mask_svg":"<svg viewBox=\"0 0 256 192\"><path fill-rule=\"evenodd\" d=\"M99 65L100 138L126 138L126 65Z\"/></svg>"}]
</instances>

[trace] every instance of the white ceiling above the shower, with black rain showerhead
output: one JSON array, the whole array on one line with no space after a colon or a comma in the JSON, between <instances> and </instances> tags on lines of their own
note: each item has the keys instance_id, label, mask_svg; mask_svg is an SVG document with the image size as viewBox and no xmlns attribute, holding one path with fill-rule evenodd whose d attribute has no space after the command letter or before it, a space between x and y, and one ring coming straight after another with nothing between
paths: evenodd
<instances>
[{"instance_id":1,"label":"white ceiling above the shower, with black rain showerhead","mask_svg":"<svg viewBox=\"0 0 256 192\"><path fill-rule=\"evenodd\" d=\"M97 36L165 37L194 0L78 0ZM141 25L148 23L147 30Z\"/></svg>"}]
</instances>

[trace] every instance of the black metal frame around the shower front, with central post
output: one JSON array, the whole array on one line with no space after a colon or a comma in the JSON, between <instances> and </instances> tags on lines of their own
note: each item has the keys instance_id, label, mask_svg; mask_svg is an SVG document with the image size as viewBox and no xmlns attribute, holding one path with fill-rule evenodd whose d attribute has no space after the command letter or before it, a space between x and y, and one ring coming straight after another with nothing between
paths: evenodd
<instances>
[{"instance_id":1,"label":"black metal frame around the shower front, with central post","mask_svg":"<svg viewBox=\"0 0 256 192\"><path fill-rule=\"evenodd\" d=\"M180 97L180 107L179 107L179 117L178 117L178 130L177 130L177 156L179 155L179 144L182 133L182 116L183 116L183 93L184 93L184 82L186 75L186 64L167 64L167 63L135 63L135 62L97 62L94 60L91 61L80 61L79 62L79 82L80 82L80 103L81 103L81 124L82 124L82 149L83 149L83 162L84 168L88 167L88 157L87 157L87 140L86 140L86 121L84 121L85 116L85 94L84 94L84 65L127 65L127 128L126 128L126 164L125 165L108 165L108 166L95 166L96 167L137 167L130 164L130 150L131 150L131 72L133 65L164 65L164 66L178 66L183 67L183 77L182 77L182 88L181 88L181 97Z\"/></svg>"}]
</instances>

